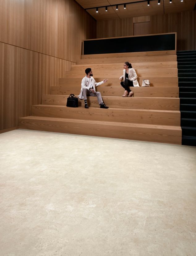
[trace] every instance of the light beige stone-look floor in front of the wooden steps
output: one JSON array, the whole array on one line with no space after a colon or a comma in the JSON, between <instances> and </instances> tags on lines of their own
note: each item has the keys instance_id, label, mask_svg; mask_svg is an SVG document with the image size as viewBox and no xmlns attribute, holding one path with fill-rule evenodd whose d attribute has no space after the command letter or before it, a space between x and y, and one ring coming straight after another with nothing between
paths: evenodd
<instances>
[{"instance_id":1,"label":"light beige stone-look floor in front of the wooden steps","mask_svg":"<svg viewBox=\"0 0 196 256\"><path fill-rule=\"evenodd\" d=\"M196 148L0 134L0 255L196 255Z\"/></svg>"}]
</instances>

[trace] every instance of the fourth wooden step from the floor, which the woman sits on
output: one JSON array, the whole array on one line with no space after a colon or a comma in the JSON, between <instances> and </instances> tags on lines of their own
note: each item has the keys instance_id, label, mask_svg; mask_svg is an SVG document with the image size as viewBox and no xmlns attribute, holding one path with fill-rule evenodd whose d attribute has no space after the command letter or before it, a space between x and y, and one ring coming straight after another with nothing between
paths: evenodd
<instances>
[{"instance_id":1,"label":"fourth wooden step from the floor, which the woman sits on","mask_svg":"<svg viewBox=\"0 0 196 256\"><path fill-rule=\"evenodd\" d=\"M105 85L105 84L103 84ZM66 86L51 86L50 94L53 95L69 95L74 93L79 94L80 85L66 85ZM160 97L160 98L179 98L178 87L131 87L134 92L134 97ZM124 89L119 86L97 86L96 91L100 92L102 96L121 96Z\"/></svg>"}]
</instances>

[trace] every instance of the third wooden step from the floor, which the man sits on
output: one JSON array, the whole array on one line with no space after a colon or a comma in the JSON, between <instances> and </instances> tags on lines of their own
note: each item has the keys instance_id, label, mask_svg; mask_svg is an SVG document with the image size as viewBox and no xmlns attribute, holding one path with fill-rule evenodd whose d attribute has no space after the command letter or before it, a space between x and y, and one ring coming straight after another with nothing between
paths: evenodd
<instances>
[{"instance_id":1,"label":"third wooden step from the floor, which the man sits on","mask_svg":"<svg viewBox=\"0 0 196 256\"><path fill-rule=\"evenodd\" d=\"M43 95L44 105L66 105L69 95ZM87 97L89 106L99 107L96 97ZM113 97L102 96L104 103L113 108L179 110L179 98L150 98L150 97ZM84 106L84 100L79 100L79 106Z\"/></svg>"}]
</instances>

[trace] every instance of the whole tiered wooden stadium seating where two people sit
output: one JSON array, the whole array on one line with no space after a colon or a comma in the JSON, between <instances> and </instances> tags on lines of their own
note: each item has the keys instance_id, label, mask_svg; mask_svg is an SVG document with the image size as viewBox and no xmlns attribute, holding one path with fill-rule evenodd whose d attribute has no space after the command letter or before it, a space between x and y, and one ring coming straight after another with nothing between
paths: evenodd
<instances>
[{"instance_id":1,"label":"whole tiered wooden stadium seating where two people sit","mask_svg":"<svg viewBox=\"0 0 196 256\"><path fill-rule=\"evenodd\" d=\"M138 75L134 97L121 97L125 61ZM78 108L66 107L70 93L79 95L87 67L96 82L109 78L97 87L109 109L100 109L96 97L88 97L89 109L80 99ZM141 86L143 79L150 87ZM181 144L179 107L176 51L82 55L41 104L32 106L31 116L20 118L19 128Z\"/></svg>"}]
</instances>

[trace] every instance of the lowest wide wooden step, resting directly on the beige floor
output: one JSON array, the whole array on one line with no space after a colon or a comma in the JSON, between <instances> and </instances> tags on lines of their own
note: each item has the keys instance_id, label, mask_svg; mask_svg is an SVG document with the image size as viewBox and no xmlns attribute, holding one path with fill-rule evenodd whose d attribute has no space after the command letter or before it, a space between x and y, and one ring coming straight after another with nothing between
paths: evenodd
<instances>
[{"instance_id":1,"label":"lowest wide wooden step, resting directly on the beige floor","mask_svg":"<svg viewBox=\"0 0 196 256\"><path fill-rule=\"evenodd\" d=\"M181 127L179 126L127 124L117 122L27 116L19 119L19 128L181 144Z\"/></svg>"}]
</instances>

